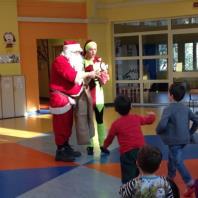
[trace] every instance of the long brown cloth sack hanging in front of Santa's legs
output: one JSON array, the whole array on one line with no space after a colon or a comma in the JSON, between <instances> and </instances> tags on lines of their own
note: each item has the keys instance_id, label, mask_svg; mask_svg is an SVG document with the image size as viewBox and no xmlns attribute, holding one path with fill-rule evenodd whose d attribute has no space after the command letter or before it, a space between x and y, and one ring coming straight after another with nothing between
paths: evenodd
<instances>
[{"instance_id":1,"label":"long brown cloth sack hanging in front of Santa's legs","mask_svg":"<svg viewBox=\"0 0 198 198\"><path fill-rule=\"evenodd\" d=\"M90 138L95 135L93 108L90 99L88 92L83 91L77 100L74 111L76 138L77 143L80 145L88 144Z\"/></svg>"}]
</instances>

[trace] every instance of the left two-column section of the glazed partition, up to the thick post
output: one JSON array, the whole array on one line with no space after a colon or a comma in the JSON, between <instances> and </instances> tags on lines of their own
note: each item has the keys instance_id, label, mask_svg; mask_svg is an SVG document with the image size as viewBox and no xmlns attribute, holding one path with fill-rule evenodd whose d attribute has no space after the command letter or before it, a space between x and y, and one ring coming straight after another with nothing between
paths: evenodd
<instances>
[{"instance_id":1,"label":"left two-column section of the glazed partition, up to the thick post","mask_svg":"<svg viewBox=\"0 0 198 198\"><path fill-rule=\"evenodd\" d=\"M167 102L167 29L167 20L114 25L116 95L132 103Z\"/></svg>"}]
</instances>

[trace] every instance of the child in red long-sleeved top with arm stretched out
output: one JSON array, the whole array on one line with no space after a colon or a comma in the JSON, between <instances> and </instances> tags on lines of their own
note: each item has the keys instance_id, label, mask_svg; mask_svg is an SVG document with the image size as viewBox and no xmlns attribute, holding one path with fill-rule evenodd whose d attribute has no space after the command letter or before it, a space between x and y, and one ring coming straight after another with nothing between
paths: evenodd
<instances>
[{"instance_id":1,"label":"child in red long-sleeved top with arm stretched out","mask_svg":"<svg viewBox=\"0 0 198 198\"><path fill-rule=\"evenodd\" d=\"M120 118L111 125L103 149L107 149L117 136L121 154L122 183L126 183L139 174L136 158L139 148L144 146L141 125L152 124L155 121L155 113L149 112L146 116L129 114L131 102L126 96L118 96L114 101L114 106Z\"/></svg>"}]
</instances>

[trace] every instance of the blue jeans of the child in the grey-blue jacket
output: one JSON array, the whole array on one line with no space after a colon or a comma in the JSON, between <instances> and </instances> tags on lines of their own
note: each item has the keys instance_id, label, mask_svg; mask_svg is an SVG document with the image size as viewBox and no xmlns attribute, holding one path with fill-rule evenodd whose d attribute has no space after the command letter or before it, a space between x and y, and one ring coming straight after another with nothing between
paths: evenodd
<instances>
[{"instance_id":1,"label":"blue jeans of the child in the grey-blue jacket","mask_svg":"<svg viewBox=\"0 0 198 198\"><path fill-rule=\"evenodd\" d=\"M192 181L192 177L183 162L182 152L184 146L185 145L168 146L168 177L174 178L176 176L176 170L178 170L185 184L188 185Z\"/></svg>"}]
</instances>

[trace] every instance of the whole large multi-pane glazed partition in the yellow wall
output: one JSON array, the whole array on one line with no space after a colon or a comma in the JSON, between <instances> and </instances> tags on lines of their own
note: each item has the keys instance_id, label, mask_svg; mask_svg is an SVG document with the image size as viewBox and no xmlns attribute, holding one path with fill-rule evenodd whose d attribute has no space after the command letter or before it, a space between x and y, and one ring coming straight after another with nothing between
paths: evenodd
<instances>
[{"instance_id":1,"label":"whole large multi-pane glazed partition in the yellow wall","mask_svg":"<svg viewBox=\"0 0 198 198\"><path fill-rule=\"evenodd\" d=\"M115 93L133 103L167 103L174 78L197 79L198 16L114 24L114 46Z\"/></svg>"}]
</instances>

